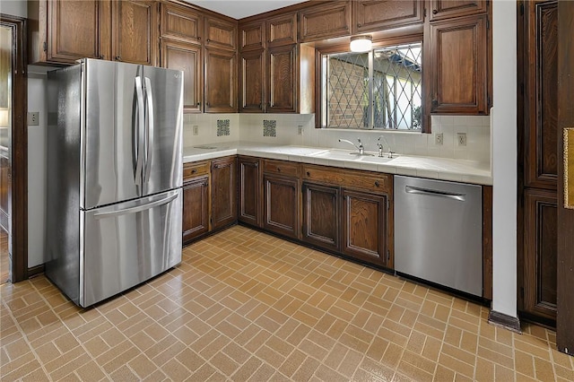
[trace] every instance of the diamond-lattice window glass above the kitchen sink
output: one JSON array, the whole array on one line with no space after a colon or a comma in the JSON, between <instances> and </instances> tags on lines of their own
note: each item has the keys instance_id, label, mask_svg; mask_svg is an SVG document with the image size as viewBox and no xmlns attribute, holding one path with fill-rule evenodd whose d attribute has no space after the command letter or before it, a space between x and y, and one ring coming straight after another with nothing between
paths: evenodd
<instances>
[{"instance_id":1,"label":"diamond-lattice window glass above the kitchen sink","mask_svg":"<svg viewBox=\"0 0 574 382\"><path fill-rule=\"evenodd\" d=\"M422 128L422 44L322 57L322 126Z\"/></svg>"}]
</instances>

